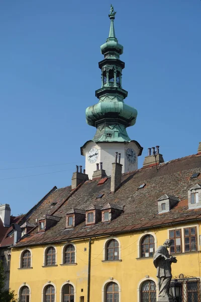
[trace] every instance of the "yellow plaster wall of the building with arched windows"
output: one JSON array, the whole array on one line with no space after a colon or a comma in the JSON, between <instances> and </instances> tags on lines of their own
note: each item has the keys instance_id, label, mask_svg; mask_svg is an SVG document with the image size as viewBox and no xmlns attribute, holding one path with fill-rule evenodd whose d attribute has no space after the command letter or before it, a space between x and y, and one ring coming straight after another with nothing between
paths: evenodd
<instances>
[{"instance_id":1,"label":"yellow plaster wall of the building with arched windows","mask_svg":"<svg viewBox=\"0 0 201 302\"><path fill-rule=\"evenodd\" d=\"M177 229L184 225L177 225ZM199 234L200 226L197 224L186 224L197 228L198 251L191 253L179 253L177 263L172 264L172 275L180 273L188 276L200 276L200 254ZM154 280L157 288L156 268L153 265L153 257L140 258L140 244L144 235L151 234L155 238L155 248L162 245L169 236L172 228L152 229L145 232L118 235L117 237L106 236L92 239L91 244L91 283L90 301L105 302L104 286L108 282L117 281L120 286L120 301L140 301L140 287L145 280ZM176 228L174 228L176 229ZM199 231L198 231L199 230ZM117 238L120 245L120 261L105 260L105 244L107 240ZM45 284L54 284L56 289L55 302L61 302L61 287L66 280L75 286L75 302L79 297L87 298L87 265L88 265L88 240L74 241L76 245L77 265L64 265L62 263L62 251L65 243L56 244L57 266L42 267L44 265L44 250L47 246L29 247L32 250L32 269L19 270L19 258L22 249L13 249L11 257L10 287L17 293L23 282L31 288L30 302L43 301L42 290ZM84 251L86 248L86 251ZM51 283L48 283L50 281ZM83 289L83 291L81 291Z\"/></svg>"}]
</instances>

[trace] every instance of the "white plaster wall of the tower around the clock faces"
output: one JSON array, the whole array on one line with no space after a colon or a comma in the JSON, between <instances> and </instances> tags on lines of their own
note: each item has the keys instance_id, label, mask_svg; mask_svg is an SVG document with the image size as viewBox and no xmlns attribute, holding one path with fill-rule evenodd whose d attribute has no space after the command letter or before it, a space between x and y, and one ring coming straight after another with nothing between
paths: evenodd
<instances>
[{"instance_id":1,"label":"white plaster wall of the tower around the clock faces","mask_svg":"<svg viewBox=\"0 0 201 302\"><path fill-rule=\"evenodd\" d=\"M98 150L98 158L95 163L90 164L87 159L87 155L89 150L95 147ZM102 162L103 169L106 170L107 176L111 176L112 173L112 163L115 162L115 153L121 153L121 164L122 173L134 171L138 169L138 157L136 156L136 162L131 164L128 162L126 158L126 150L128 148L133 148L135 150L136 155L139 153L139 149L134 142L129 143L98 143L96 144L93 141L89 141L86 147L83 149L85 155L85 170L86 174L88 174L88 178L92 179L93 172L96 170L96 164Z\"/></svg>"}]
</instances>

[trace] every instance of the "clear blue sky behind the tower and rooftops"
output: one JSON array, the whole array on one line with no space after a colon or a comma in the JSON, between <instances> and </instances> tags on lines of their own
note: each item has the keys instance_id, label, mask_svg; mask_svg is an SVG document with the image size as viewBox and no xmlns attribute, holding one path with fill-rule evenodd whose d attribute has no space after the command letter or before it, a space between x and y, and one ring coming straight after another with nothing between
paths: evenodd
<instances>
[{"instance_id":1,"label":"clear blue sky behind the tower and rooftops","mask_svg":"<svg viewBox=\"0 0 201 302\"><path fill-rule=\"evenodd\" d=\"M144 147L139 167L157 144L165 161L195 154L201 141L200 0L113 5L124 45L125 102L138 110L128 133ZM14 215L53 186L69 185L75 165L84 166L80 146L95 133L85 123L85 108L98 101L109 10L108 0L1 1L0 203L9 203Z\"/></svg>"}]
</instances>

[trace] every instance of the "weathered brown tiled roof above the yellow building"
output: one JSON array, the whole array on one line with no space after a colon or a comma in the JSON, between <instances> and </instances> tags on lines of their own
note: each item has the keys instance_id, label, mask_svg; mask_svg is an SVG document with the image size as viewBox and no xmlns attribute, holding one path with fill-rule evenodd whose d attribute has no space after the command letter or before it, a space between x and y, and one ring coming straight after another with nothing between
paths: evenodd
<instances>
[{"instance_id":1,"label":"weathered brown tiled roof above the yellow building","mask_svg":"<svg viewBox=\"0 0 201 302\"><path fill-rule=\"evenodd\" d=\"M201 219L201 209L189 210L187 203L187 191L196 183L201 182L201 174L195 179L190 178L196 172L201 173L201 156L192 155L160 164L158 170L156 167L149 167L125 173L120 188L112 194L110 192L110 178L102 185L97 185L99 180L86 181L73 195L66 197L67 200L55 211L54 215L61 217L55 226L43 234L38 234L38 230L35 229L29 236L23 238L17 246L37 244L39 241L51 242L66 240L67 238L148 229L161 224ZM146 183L146 186L138 190L142 183ZM69 189L58 190L69 196ZM117 207L123 207L124 210L121 215L110 223L99 222L88 227L85 226L85 222L82 222L74 229L66 229L66 213L72 208L87 209L91 204L99 205L100 201L96 199L96 196L100 193L104 194L101 199L103 206L110 203ZM179 202L169 212L158 214L157 200L166 193L177 196Z\"/></svg>"}]
</instances>

